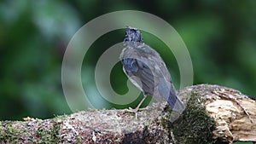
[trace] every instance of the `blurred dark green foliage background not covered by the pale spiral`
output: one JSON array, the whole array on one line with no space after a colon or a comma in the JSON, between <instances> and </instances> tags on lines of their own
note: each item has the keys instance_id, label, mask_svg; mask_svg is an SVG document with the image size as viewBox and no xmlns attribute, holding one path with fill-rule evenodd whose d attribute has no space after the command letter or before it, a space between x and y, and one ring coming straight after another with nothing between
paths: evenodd
<instances>
[{"instance_id":1,"label":"blurred dark green foliage background not covered by the pale spiral","mask_svg":"<svg viewBox=\"0 0 256 144\"><path fill-rule=\"evenodd\" d=\"M194 84L219 84L256 95L255 6L253 0L1 1L0 118L51 118L70 113L61 87L61 61L67 43L86 22L125 9L160 16L177 30L192 58ZM91 46L83 66L91 67L87 70L93 72L97 58L108 47L121 42L124 34L125 30L118 30L100 37ZM143 36L164 60L174 61L166 65L178 88L179 72L172 53L166 53L165 44L157 37L147 32ZM86 84L95 86L93 76L83 77L90 78ZM126 80L120 64L114 67L111 79L119 94L127 91L123 86L126 82L120 82ZM117 107L106 101L95 105Z\"/></svg>"}]
</instances>

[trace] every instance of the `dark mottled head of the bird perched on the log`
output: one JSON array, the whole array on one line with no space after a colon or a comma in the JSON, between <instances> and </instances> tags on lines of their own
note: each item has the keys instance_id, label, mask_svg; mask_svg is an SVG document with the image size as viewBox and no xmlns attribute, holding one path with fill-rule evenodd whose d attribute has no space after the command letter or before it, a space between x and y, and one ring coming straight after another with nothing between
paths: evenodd
<instances>
[{"instance_id":1,"label":"dark mottled head of the bird perched on the log","mask_svg":"<svg viewBox=\"0 0 256 144\"><path fill-rule=\"evenodd\" d=\"M140 32L140 30L138 30L137 28L127 26L124 42L143 43L142 32Z\"/></svg>"}]
</instances>

